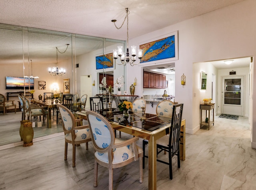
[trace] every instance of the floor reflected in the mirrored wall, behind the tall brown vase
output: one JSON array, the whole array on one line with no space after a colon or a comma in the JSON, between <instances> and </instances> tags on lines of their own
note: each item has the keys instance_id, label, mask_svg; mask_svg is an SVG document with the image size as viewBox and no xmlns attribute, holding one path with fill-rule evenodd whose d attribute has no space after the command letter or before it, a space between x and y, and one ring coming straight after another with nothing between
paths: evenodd
<instances>
[{"instance_id":1,"label":"floor reflected in the mirrored wall, behind the tall brown vase","mask_svg":"<svg viewBox=\"0 0 256 190\"><path fill-rule=\"evenodd\" d=\"M45 123L42 121L42 127L37 127L37 122L40 121L38 119L32 118L32 122L35 122L34 129L34 138L43 137L46 135L52 135L55 133L63 132L62 129L62 121L59 119L58 124L56 122L56 109L55 113L52 115L52 128L47 128L47 119L45 119ZM20 142L20 121L22 112L18 111L8 112L5 115L0 113L0 146L5 144L17 143Z\"/></svg>"}]
</instances>

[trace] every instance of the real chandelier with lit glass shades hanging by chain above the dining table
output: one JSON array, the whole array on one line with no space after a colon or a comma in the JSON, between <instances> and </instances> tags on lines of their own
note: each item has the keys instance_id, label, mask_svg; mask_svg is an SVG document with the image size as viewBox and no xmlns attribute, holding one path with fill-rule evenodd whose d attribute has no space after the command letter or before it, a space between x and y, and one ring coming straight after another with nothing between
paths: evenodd
<instances>
[{"instance_id":1,"label":"real chandelier with lit glass shades hanging by chain above the dining table","mask_svg":"<svg viewBox=\"0 0 256 190\"><path fill-rule=\"evenodd\" d=\"M128 8L125 9L126 10L126 16L124 18L124 21L126 20L127 18L127 49L126 49L126 55L124 55L124 52L123 52L123 46L117 46L118 49L113 49L113 58L115 59L115 63L118 64L118 65L126 65L126 63L130 63L131 66L134 66L134 65L138 65L139 63L135 64L135 61L136 61L136 46L131 46L132 48L132 57L130 56L129 54L129 42L128 42L128 38L129 38L129 35L128 35L128 14L130 14L130 12L128 11ZM111 22L114 22L114 25L116 26L115 22L116 20L111 20ZM118 28L116 26L117 29L120 29L122 28L124 22L122 23L122 25ZM117 56L120 57L120 61L121 63L117 63L116 62L116 59L117 59ZM141 59L142 58L142 49L138 49L138 58Z\"/></svg>"}]
</instances>

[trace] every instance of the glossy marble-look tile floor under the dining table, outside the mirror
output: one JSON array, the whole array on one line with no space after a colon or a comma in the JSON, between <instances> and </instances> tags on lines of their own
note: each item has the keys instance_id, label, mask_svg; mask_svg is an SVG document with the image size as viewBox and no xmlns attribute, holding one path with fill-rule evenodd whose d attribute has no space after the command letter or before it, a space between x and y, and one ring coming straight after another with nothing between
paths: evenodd
<instances>
[{"instance_id":1,"label":"glossy marble-look tile floor under the dining table, outside the mirror","mask_svg":"<svg viewBox=\"0 0 256 190\"><path fill-rule=\"evenodd\" d=\"M189 125L189 124L187 124ZM186 160L177 167L173 158L173 179L168 166L157 163L157 189L170 190L255 190L256 150L251 148L248 118L230 120L215 117L214 126L186 134ZM128 135L122 133L123 137ZM137 143L142 146L142 140ZM37 141L33 146L0 150L0 189L4 190L105 190L108 169L98 168L98 187L93 187L94 150L89 143L76 149L72 168L72 146L64 160L64 135ZM167 155L159 158L167 159ZM146 164L147 164L146 158ZM148 167L143 183L138 182L138 161L114 169L114 190L148 189Z\"/></svg>"}]
</instances>

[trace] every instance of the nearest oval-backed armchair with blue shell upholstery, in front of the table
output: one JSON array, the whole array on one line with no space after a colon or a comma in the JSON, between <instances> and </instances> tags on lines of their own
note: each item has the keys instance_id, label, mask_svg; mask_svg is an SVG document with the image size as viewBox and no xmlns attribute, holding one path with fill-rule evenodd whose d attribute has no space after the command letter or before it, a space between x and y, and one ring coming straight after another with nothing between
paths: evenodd
<instances>
[{"instance_id":1,"label":"nearest oval-backed armchair with blue shell upholstery, in front of the table","mask_svg":"<svg viewBox=\"0 0 256 190\"><path fill-rule=\"evenodd\" d=\"M108 189L113 189L113 169L125 166L132 161L139 159L140 178L142 183L142 148L136 146L138 137L133 137L128 140L115 138L114 130L108 120L102 115L94 111L87 111L89 127L94 146L94 187L97 186L98 164L107 167L108 174Z\"/></svg>"}]
</instances>

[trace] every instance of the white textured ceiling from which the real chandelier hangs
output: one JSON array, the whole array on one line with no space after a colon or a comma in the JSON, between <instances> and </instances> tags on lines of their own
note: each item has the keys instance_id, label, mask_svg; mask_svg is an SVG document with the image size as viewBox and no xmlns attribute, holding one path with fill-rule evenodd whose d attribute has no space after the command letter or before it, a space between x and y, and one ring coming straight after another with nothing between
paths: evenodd
<instances>
[{"instance_id":1,"label":"white textured ceiling from which the real chandelier hangs","mask_svg":"<svg viewBox=\"0 0 256 190\"><path fill-rule=\"evenodd\" d=\"M242 1L1 0L0 23L126 40L126 23L117 30L111 22L120 27L125 8L131 39Z\"/></svg>"}]
</instances>

